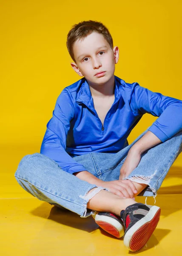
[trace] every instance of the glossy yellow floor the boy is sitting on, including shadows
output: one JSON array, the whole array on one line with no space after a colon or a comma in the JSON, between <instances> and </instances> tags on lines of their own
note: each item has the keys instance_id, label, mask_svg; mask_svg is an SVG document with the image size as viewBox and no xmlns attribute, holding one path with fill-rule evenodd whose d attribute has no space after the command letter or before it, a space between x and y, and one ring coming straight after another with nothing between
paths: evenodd
<instances>
[{"instance_id":1,"label":"glossy yellow floor the boy is sitting on, including shadows","mask_svg":"<svg viewBox=\"0 0 182 256\"><path fill-rule=\"evenodd\" d=\"M145 247L128 253L122 239L98 228L92 217L63 211L24 191L14 178L21 158L38 148L6 146L0 177L0 255L122 256L127 254L182 255L182 154L168 172L156 197L161 207L159 224ZM137 197L145 203L145 198ZM154 204L153 198L147 204Z\"/></svg>"}]
</instances>

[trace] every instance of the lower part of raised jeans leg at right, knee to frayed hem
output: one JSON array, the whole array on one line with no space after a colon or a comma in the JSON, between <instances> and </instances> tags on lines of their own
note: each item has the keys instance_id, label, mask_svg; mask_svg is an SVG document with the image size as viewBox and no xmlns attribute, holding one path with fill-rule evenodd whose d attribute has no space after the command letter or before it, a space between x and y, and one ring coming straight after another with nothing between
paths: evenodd
<instances>
[{"instance_id":1,"label":"lower part of raised jeans leg at right, knee to frayed hem","mask_svg":"<svg viewBox=\"0 0 182 256\"><path fill-rule=\"evenodd\" d=\"M179 131L164 143L159 143L145 151L137 168L125 179L136 183L145 183L148 186L139 196L153 196L155 198L157 190L181 152L182 131Z\"/></svg>"}]
</instances>

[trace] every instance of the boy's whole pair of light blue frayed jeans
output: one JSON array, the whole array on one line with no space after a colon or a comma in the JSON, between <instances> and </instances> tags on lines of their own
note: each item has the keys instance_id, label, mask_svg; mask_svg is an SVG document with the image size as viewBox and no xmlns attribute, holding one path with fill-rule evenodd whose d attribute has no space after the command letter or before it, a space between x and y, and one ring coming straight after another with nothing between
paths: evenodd
<instances>
[{"instance_id":1,"label":"boy's whole pair of light blue frayed jeans","mask_svg":"<svg viewBox=\"0 0 182 256\"><path fill-rule=\"evenodd\" d=\"M74 160L100 180L119 180L120 169L128 151L148 129L133 143L130 145L127 143L125 148L115 154L92 152L74 157ZM147 184L148 186L139 196L155 198L168 170L181 151L182 131L164 143L161 142L146 150L137 168L125 179ZM40 153L24 156L18 165L15 177L23 189L39 200L76 212L81 218L91 215L92 210L87 209L87 203L94 195L102 189L109 191L107 188L90 184L64 172L54 160ZM88 194L95 187L97 189Z\"/></svg>"}]
</instances>

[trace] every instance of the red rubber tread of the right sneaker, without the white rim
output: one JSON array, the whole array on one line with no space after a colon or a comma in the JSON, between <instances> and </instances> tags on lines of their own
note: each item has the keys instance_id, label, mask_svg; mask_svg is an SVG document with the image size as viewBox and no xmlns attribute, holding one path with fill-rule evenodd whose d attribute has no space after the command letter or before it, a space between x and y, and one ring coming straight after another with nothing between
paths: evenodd
<instances>
[{"instance_id":1,"label":"red rubber tread of the right sneaker, without the white rim","mask_svg":"<svg viewBox=\"0 0 182 256\"><path fill-rule=\"evenodd\" d=\"M159 209L156 214L154 215L154 218L152 218L151 221L145 223L140 227L131 237L131 241L129 244L131 251L138 251L142 249L142 247L145 246L148 239L151 237L152 233L154 232L160 218L160 212L161 209Z\"/></svg>"}]
</instances>

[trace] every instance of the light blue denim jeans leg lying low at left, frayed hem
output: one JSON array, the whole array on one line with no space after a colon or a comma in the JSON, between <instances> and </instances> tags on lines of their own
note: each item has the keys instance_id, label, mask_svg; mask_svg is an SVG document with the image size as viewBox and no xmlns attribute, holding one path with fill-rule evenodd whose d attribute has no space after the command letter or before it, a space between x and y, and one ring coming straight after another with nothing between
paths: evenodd
<instances>
[{"instance_id":1,"label":"light blue denim jeans leg lying low at left, frayed hem","mask_svg":"<svg viewBox=\"0 0 182 256\"><path fill-rule=\"evenodd\" d=\"M91 215L88 201L101 190L108 190L64 172L54 160L40 153L24 156L15 178L23 189L39 200L62 206L82 218Z\"/></svg>"}]
</instances>

